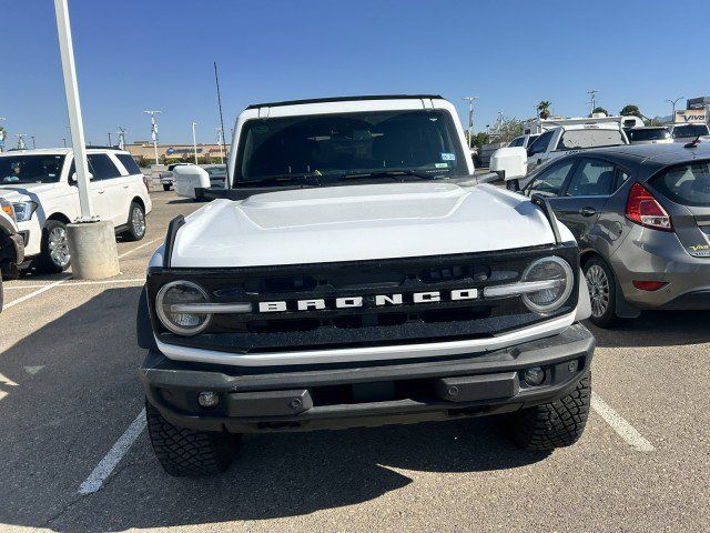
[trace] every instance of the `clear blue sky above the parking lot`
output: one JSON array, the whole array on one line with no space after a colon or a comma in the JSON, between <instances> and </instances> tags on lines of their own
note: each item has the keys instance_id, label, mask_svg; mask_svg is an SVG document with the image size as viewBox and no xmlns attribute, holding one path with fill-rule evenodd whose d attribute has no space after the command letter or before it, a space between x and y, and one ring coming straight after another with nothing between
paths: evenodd
<instances>
[{"instance_id":1,"label":"clear blue sky above the parking lot","mask_svg":"<svg viewBox=\"0 0 710 533\"><path fill-rule=\"evenodd\" d=\"M460 97L477 94L477 127L498 111L529 117L544 99L556 113L586 113L591 88L609 111L631 102L647 115L669 114L667 98L710 94L706 36L682 31L693 19L682 6L69 0L87 140L94 144L109 131L115 140L119 124L129 142L148 139L143 109L163 110L161 143L190 142L192 120L197 141L213 142L212 61L227 129L253 102L372 93L440 93L462 119ZM0 117L10 141L28 133L38 147L61 145L68 119L52 0L0 0Z\"/></svg>"}]
</instances>

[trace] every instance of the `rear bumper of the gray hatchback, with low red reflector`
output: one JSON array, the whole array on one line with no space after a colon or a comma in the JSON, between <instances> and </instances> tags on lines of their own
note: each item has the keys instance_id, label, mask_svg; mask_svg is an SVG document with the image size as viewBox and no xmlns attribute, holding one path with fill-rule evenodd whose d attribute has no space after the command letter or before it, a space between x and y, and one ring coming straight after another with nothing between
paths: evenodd
<instances>
[{"instance_id":1,"label":"rear bumper of the gray hatchback, with low red reflector","mask_svg":"<svg viewBox=\"0 0 710 533\"><path fill-rule=\"evenodd\" d=\"M690 255L674 233L635 228L611 255L623 298L638 309L710 309L710 258ZM633 281L662 281L643 291Z\"/></svg>"}]
</instances>

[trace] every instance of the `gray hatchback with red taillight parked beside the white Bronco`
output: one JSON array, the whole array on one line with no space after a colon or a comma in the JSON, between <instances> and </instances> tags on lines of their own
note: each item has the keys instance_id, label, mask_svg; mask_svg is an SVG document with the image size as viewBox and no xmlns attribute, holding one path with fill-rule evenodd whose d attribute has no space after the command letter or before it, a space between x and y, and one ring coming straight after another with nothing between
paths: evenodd
<instances>
[{"instance_id":1,"label":"gray hatchback with red taillight parked beside the white Bronco","mask_svg":"<svg viewBox=\"0 0 710 533\"><path fill-rule=\"evenodd\" d=\"M566 155L523 191L577 238L591 321L710 309L710 147L621 145Z\"/></svg>"}]
</instances>

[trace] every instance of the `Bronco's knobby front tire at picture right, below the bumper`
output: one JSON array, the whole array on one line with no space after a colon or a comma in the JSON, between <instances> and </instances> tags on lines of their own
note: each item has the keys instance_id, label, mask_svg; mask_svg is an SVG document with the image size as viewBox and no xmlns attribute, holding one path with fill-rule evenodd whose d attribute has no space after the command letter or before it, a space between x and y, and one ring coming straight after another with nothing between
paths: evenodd
<instances>
[{"instance_id":1,"label":"Bronco's knobby front tire at picture right, below the bumper","mask_svg":"<svg viewBox=\"0 0 710 533\"><path fill-rule=\"evenodd\" d=\"M591 374L552 403L521 409L507 416L513 442L526 450L551 451L577 442L585 431L591 403Z\"/></svg>"}]
</instances>

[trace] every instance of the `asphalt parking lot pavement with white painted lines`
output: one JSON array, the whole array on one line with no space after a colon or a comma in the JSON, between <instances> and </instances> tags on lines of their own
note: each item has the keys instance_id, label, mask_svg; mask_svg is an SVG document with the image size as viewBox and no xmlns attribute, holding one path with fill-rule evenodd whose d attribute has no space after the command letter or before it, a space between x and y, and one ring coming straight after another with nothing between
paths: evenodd
<instances>
[{"instance_id":1,"label":"asphalt parking lot pavement with white painted lines","mask_svg":"<svg viewBox=\"0 0 710 533\"><path fill-rule=\"evenodd\" d=\"M14 531L707 531L710 313L594 329L582 440L521 452L493 419L250 435L225 474L174 479L150 450L134 314L168 222L102 282L27 274L0 315L0 529Z\"/></svg>"}]
</instances>

